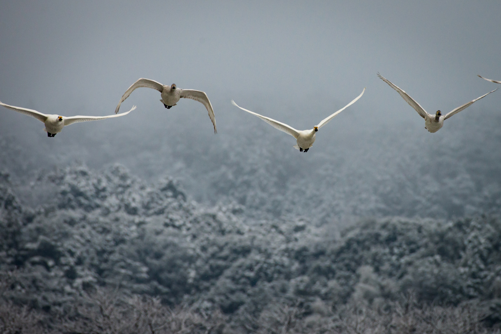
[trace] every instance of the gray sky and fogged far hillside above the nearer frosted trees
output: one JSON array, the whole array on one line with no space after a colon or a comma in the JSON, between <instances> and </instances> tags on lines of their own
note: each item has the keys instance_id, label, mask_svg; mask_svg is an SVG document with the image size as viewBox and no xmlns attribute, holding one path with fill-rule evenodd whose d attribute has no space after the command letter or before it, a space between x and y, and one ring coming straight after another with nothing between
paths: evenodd
<instances>
[{"instance_id":1,"label":"gray sky and fogged far hillside above the nearer frosted trees","mask_svg":"<svg viewBox=\"0 0 501 334\"><path fill-rule=\"evenodd\" d=\"M339 222L492 210L485 201L499 202L499 93L429 134L376 73L430 113L493 90L476 74L501 76L499 9L495 1L4 2L2 102L65 116L109 115L144 77L206 92L218 134L199 103L183 100L166 110L158 92L145 88L124 102L138 106L127 117L77 124L54 140L40 122L3 108L2 168L33 205L51 198L21 188L37 173L119 163L151 182L172 176L197 201L236 199L276 216ZM310 129L364 87L304 155L292 148L293 138L229 103ZM416 198L419 208L409 211ZM446 208L424 209L434 203Z\"/></svg>"}]
</instances>

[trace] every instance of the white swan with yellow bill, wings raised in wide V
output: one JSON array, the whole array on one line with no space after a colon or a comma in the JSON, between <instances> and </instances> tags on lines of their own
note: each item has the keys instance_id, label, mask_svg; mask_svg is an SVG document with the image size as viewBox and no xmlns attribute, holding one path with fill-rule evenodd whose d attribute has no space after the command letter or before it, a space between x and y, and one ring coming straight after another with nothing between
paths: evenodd
<instances>
[{"instance_id":1,"label":"white swan with yellow bill, wings raised in wide V","mask_svg":"<svg viewBox=\"0 0 501 334\"><path fill-rule=\"evenodd\" d=\"M339 114L340 112L342 112L343 110L345 110L347 107L349 107L352 104L354 104L358 99L360 99L362 97L362 95L364 95L364 92L365 92L365 88L362 91L362 93L359 96L357 96L357 98L355 100L353 100L352 102L348 103L345 107L343 107L342 109L339 109L334 114L332 114L329 117L327 117L324 120L322 120L322 122L320 122L317 126L314 126L313 129L311 129L311 130L302 130L302 131L301 130L296 130L293 127L291 127L291 126L289 126L289 125L287 125L285 123L276 121L276 120L271 119L269 117L262 116L260 114L254 113L254 112L252 112L250 110L247 110L247 109L243 109L242 107L238 106L235 103L235 101L233 101L233 100L231 100L231 103L234 106L240 108L241 110L246 111L247 113L250 113L250 114L258 116L259 118L261 118L263 121L265 121L266 123L270 124L274 128L279 129L280 131L284 131L285 133L290 134L291 136L293 136L294 138L296 138L296 142L298 143L298 145L295 145L294 148L300 150L301 152L303 152L303 151L304 152L308 152L308 150L310 149L310 147L312 147L313 143L315 142L315 134L318 131L318 129L320 129L321 127L323 127L324 125L326 125L330 120L332 120L337 114Z\"/></svg>"}]
</instances>

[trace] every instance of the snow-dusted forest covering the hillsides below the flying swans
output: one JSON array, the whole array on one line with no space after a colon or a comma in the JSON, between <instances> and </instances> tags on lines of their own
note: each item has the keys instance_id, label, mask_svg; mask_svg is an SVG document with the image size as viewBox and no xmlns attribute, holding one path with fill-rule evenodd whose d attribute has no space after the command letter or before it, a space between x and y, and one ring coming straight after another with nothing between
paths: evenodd
<instances>
[{"instance_id":1,"label":"snow-dusted forest covering the hillsides below the flying swans","mask_svg":"<svg viewBox=\"0 0 501 334\"><path fill-rule=\"evenodd\" d=\"M115 328L128 312L144 323L158 317L158 328L166 314L169 323L186 316L200 331L357 332L357 321L398 331L411 320L427 330L465 314L471 332L498 328L498 152L470 159L473 143L430 156L407 145L409 157L387 163L395 152L378 143L382 161L348 150L308 169L308 157L288 166L298 154L288 143L279 151L242 142L213 155L181 145L162 155L177 156L179 174L199 185L190 187L212 197L198 201L167 173L144 179L119 164L77 163L22 179L11 159L0 192L4 302L36 312L21 322L61 332ZM4 161L29 161L12 141L3 145ZM117 323L89 317L104 302Z\"/></svg>"}]
</instances>

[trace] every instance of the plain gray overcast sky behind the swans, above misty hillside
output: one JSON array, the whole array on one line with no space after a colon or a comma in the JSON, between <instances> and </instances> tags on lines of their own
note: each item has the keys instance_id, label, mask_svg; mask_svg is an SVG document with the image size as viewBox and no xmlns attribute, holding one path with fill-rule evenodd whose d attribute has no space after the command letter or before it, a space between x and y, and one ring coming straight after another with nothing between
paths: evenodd
<instances>
[{"instance_id":1,"label":"plain gray overcast sky behind the swans, above misty hillside","mask_svg":"<svg viewBox=\"0 0 501 334\"><path fill-rule=\"evenodd\" d=\"M2 102L67 116L108 115L124 91L145 77L205 91L220 134L212 134L196 102L182 101L167 117L158 92L148 89L122 104L124 110L136 104L134 113L65 128L52 142L40 122L2 108L0 138L17 138L35 151L78 140L85 130L113 136L123 128L187 125L219 145L234 122L259 123L230 99L311 128L364 87L344 119L332 122L333 131L347 124L359 131L384 127L389 118L391 126L422 128L422 119L377 72L428 112L450 111L496 88L476 74L501 80L499 1L1 1L0 8ZM499 110L500 94L451 122Z\"/></svg>"}]
</instances>

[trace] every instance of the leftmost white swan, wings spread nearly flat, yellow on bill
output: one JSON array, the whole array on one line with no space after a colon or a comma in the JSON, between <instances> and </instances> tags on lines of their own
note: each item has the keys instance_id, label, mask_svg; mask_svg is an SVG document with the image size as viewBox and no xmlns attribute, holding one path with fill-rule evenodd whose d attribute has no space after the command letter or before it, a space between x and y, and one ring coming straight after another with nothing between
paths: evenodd
<instances>
[{"instance_id":1,"label":"leftmost white swan, wings spread nearly flat, yellow on bill","mask_svg":"<svg viewBox=\"0 0 501 334\"><path fill-rule=\"evenodd\" d=\"M127 115L134 109L136 106L133 106L131 110L126 113L122 113L119 115L109 115L109 116L59 116L59 115L50 115L50 114L42 114L36 110L20 108L15 106L10 106L8 104L0 102L0 106L4 106L7 109L11 109L17 111L18 113L25 114L31 117L38 119L39 121L45 124L44 131L47 132L48 137L54 137L56 134L60 133L64 126L71 125L73 123L78 122L88 122L88 121L99 121L107 118L120 117Z\"/></svg>"}]
</instances>

